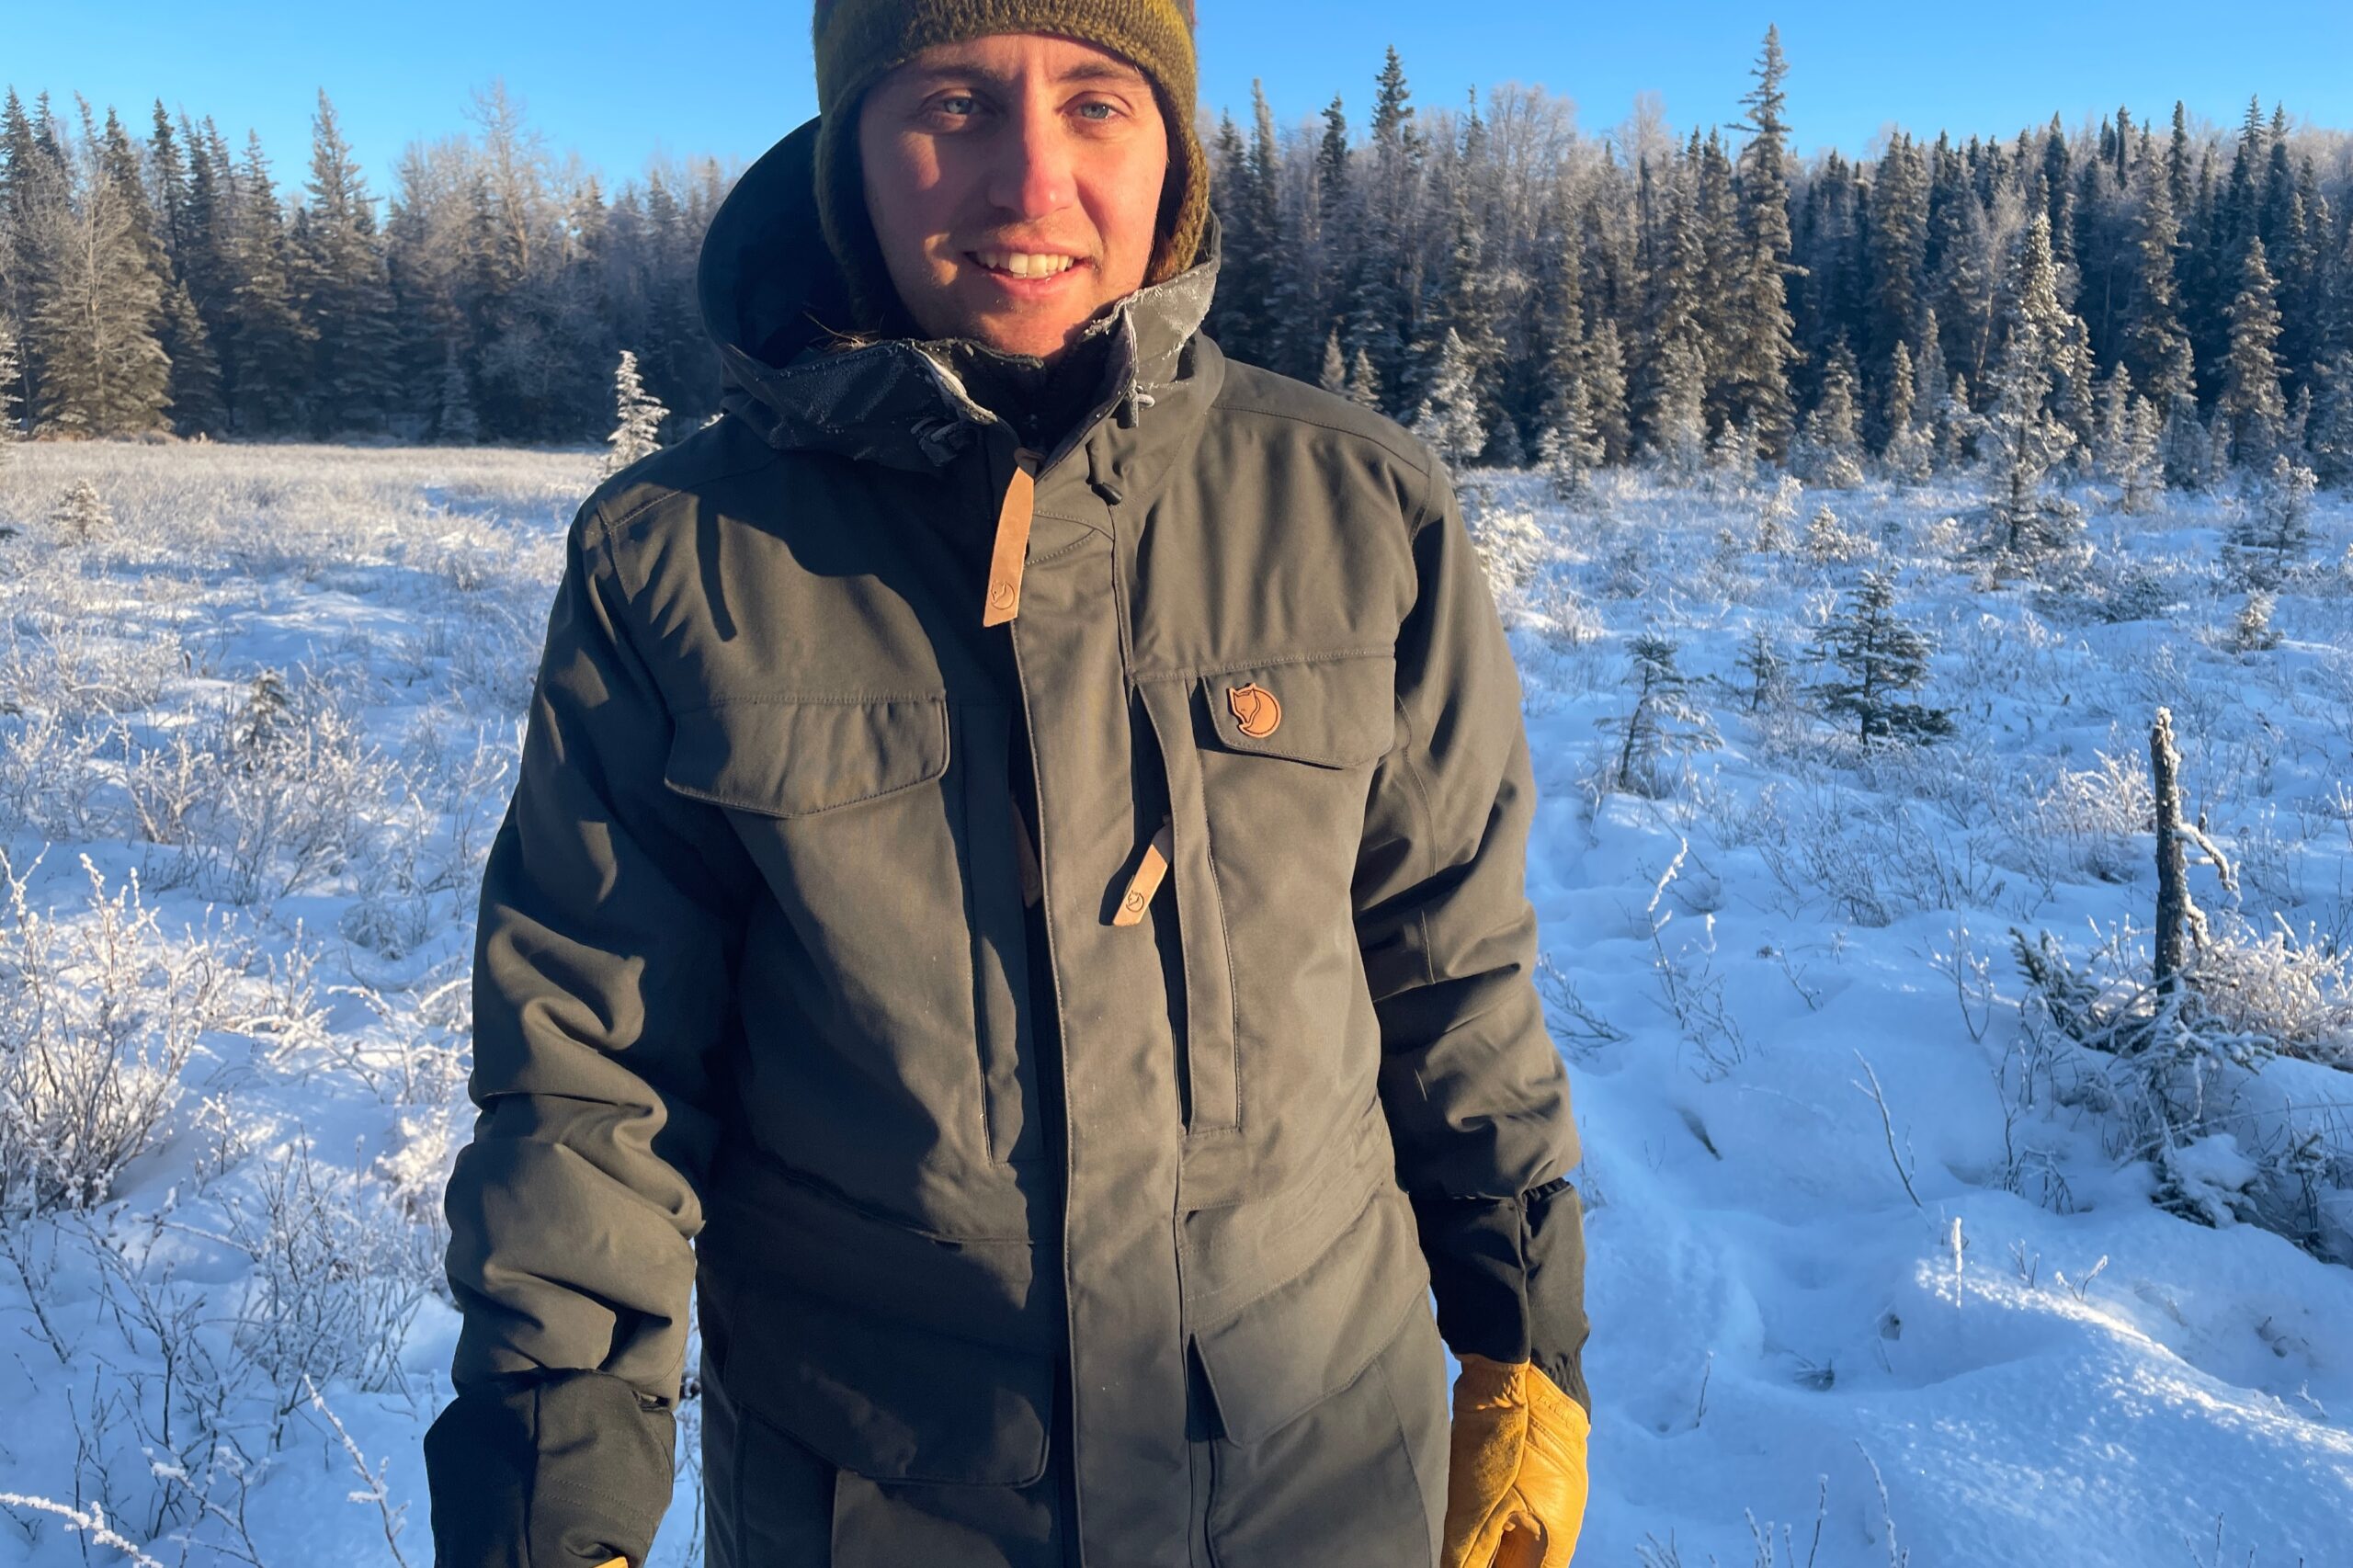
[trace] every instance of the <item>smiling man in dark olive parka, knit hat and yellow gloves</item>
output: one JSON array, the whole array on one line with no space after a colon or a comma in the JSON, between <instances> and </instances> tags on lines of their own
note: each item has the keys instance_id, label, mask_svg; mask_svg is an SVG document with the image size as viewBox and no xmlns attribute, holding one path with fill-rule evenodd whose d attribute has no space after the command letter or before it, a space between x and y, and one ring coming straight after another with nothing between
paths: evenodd
<instances>
[{"instance_id":1,"label":"smiling man in dark olive parka, knit hat and yellow gloves","mask_svg":"<svg viewBox=\"0 0 2353 1568\"><path fill-rule=\"evenodd\" d=\"M642 1566L699 1281L713 1568L1560 1568L1577 1137L1445 473L1200 334L1191 7L831 0L816 75L704 242L725 417L569 532L438 1561Z\"/></svg>"}]
</instances>

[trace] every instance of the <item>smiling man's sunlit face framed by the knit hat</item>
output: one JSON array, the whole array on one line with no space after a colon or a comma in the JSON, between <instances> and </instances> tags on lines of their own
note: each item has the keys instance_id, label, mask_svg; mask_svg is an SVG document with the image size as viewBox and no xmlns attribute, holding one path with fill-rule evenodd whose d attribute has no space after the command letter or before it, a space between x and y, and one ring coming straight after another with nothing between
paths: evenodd
<instances>
[{"instance_id":1,"label":"smiling man's sunlit face framed by the knit hat","mask_svg":"<svg viewBox=\"0 0 2353 1568\"><path fill-rule=\"evenodd\" d=\"M925 49L875 82L859 160L915 325L1052 358L1144 285L1169 139L1127 59L995 33Z\"/></svg>"}]
</instances>

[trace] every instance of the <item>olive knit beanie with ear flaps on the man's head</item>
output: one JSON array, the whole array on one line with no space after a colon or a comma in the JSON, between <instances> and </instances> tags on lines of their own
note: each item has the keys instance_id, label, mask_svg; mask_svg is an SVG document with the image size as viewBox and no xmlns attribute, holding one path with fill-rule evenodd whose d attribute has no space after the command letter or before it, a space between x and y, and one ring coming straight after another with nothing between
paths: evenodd
<instances>
[{"instance_id":1,"label":"olive knit beanie with ear flaps on the man's head","mask_svg":"<svg viewBox=\"0 0 2353 1568\"><path fill-rule=\"evenodd\" d=\"M1193 266L1209 221L1209 160L1193 134L1193 0L816 0L816 212L864 313L880 315L889 268L866 219L859 99L932 45L991 33L1059 33L1122 54L1153 82L1169 127L1160 235L1144 283Z\"/></svg>"}]
</instances>

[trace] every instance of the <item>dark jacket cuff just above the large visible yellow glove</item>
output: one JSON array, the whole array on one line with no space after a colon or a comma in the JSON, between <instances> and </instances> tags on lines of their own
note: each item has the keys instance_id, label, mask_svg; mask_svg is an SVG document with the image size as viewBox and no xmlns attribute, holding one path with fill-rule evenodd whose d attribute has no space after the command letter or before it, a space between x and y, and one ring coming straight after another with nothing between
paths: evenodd
<instances>
[{"instance_id":1,"label":"dark jacket cuff just above the large visible yellow glove","mask_svg":"<svg viewBox=\"0 0 2353 1568\"><path fill-rule=\"evenodd\" d=\"M1593 1415L1586 1391L1586 1236L1577 1187L1515 1198L1414 1196L1438 1330L1457 1356L1534 1361Z\"/></svg>"}]
</instances>

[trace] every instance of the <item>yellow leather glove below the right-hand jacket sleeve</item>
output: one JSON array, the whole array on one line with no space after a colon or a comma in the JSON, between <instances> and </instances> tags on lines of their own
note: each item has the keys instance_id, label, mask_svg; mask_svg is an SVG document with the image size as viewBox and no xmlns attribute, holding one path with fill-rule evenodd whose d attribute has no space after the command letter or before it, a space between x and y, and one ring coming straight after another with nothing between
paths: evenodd
<instances>
[{"instance_id":1,"label":"yellow leather glove below the right-hand jacket sleeve","mask_svg":"<svg viewBox=\"0 0 2353 1568\"><path fill-rule=\"evenodd\" d=\"M1586 1523L1584 1406L1534 1363L1461 1363L1445 1568L1569 1568Z\"/></svg>"}]
</instances>

